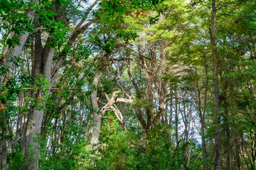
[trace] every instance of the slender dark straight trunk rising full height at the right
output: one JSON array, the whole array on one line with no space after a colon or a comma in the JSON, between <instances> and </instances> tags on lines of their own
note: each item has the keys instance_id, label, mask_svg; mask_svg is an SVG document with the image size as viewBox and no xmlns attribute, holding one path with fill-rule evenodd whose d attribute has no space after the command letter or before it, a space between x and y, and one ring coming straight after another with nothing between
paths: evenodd
<instances>
[{"instance_id":1,"label":"slender dark straight trunk rising full height at the right","mask_svg":"<svg viewBox=\"0 0 256 170\"><path fill-rule=\"evenodd\" d=\"M214 103L215 103L215 170L220 170L222 165L222 150L221 150L221 128L220 128L220 94L218 86L218 54L215 38L216 31L216 13L215 0L212 0L212 16L210 29L210 42L212 46L213 57L213 89L214 89Z\"/></svg>"}]
</instances>

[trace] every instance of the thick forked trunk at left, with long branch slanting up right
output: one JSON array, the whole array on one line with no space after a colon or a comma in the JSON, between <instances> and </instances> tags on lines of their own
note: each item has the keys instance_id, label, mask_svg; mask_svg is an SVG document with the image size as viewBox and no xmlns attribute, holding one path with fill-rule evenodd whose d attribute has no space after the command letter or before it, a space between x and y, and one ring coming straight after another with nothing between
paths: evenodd
<instances>
[{"instance_id":1,"label":"thick forked trunk at left, with long branch slanting up right","mask_svg":"<svg viewBox=\"0 0 256 170\"><path fill-rule=\"evenodd\" d=\"M93 4L91 7L95 6ZM91 8L90 7L90 8ZM90 12L90 10L89 10ZM60 21L61 17L55 18L56 22ZM74 30L73 35L71 35L70 39L68 40L68 47L73 45L73 42L75 42L75 39L82 33L84 30L86 30L87 27L89 27L92 24L92 21L89 21L85 23L82 27L77 27L77 29ZM35 27L39 27L39 22L35 22ZM32 57L32 68L33 72L32 75L36 79L38 79L38 74L43 74L44 78L50 82L49 87L53 86L55 83L55 77L57 76L58 69L60 69L61 65L63 64L63 56L65 56L69 49L64 49L61 52L62 57L60 57L58 62L55 64L55 67L53 69L53 72L51 72L51 65L53 64L53 56L55 54L55 49L53 47L48 48L50 43L50 38L53 36L53 34L48 35L48 40L46 41L46 45L43 48L42 46L42 40L41 40L41 33L35 34L35 48L34 48L34 55ZM43 89L44 86L42 84L39 84L41 88ZM34 93L34 92L33 92ZM38 169L38 159L40 157L39 152L39 142L38 137L41 135L41 126L42 126L42 120L43 120L43 108L45 107L46 103L42 102L41 98L46 98L50 94L50 91L46 91L46 93L43 93L42 90L38 92L38 94L33 94L33 98L38 100L37 106L31 107L31 112L28 115L28 121L26 123L26 127L24 127L24 134L26 135L26 138L23 140L23 151L24 151L24 162L23 162L23 170L25 169ZM39 106L39 107L38 107Z\"/></svg>"}]
</instances>

